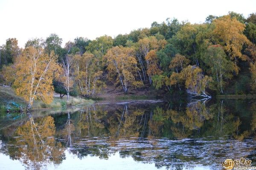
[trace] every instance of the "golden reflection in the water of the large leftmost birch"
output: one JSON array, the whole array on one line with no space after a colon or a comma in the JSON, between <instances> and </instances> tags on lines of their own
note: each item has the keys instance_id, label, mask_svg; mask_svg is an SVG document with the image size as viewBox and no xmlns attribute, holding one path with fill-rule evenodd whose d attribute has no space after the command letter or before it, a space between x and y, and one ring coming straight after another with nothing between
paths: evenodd
<instances>
[{"instance_id":1,"label":"golden reflection in the water of the large leftmost birch","mask_svg":"<svg viewBox=\"0 0 256 170\"><path fill-rule=\"evenodd\" d=\"M53 162L60 164L64 159L64 150L61 143L56 143L54 120L51 116L38 118L35 123L31 117L16 130L20 138L16 138L19 147L18 157L31 169L40 169L42 163Z\"/></svg>"}]
</instances>

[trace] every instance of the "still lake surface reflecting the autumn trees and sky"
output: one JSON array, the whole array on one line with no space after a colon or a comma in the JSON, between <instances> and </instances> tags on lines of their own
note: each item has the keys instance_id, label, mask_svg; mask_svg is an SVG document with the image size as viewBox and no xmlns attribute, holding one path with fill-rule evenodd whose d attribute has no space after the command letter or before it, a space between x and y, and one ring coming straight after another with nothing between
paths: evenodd
<instances>
[{"instance_id":1,"label":"still lake surface reflecting the autumn trees and sky","mask_svg":"<svg viewBox=\"0 0 256 170\"><path fill-rule=\"evenodd\" d=\"M256 164L256 101L135 101L0 116L0 170L220 170Z\"/></svg>"}]
</instances>

